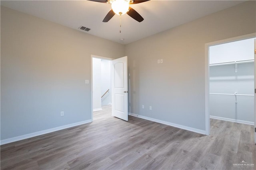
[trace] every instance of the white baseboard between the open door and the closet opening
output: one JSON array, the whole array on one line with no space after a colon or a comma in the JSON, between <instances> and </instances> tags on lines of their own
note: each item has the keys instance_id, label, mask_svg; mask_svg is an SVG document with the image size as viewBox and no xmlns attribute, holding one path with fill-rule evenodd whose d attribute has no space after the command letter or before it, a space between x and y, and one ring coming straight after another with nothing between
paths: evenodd
<instances>
[{"instance_id":1,"label":"white baseboard between the open door and the closet opening","mask_svg":"<svg viewBox=\"0 0 256 170\"><path fill-rule=\"evenodd\" d=\"M200 133L200 134L206 134L205 130L201 130L201 129L197 129L197 128L186 127L186 126L183 126L183 125L178 125L178 124L175 124L175 123L161 121L161 120L146 117L146 116L136 115L134 113L129 113L129 115L134 116L134 117L138 117L138 118L141 118L141 119L146 119L148 121L153 121L153 122L162 123L164 125L169 125L169 126L176 127L176 128L181 128L181 129L184 129L184 130L189 130L189 131Z\"/></svg>"}]
</instances>

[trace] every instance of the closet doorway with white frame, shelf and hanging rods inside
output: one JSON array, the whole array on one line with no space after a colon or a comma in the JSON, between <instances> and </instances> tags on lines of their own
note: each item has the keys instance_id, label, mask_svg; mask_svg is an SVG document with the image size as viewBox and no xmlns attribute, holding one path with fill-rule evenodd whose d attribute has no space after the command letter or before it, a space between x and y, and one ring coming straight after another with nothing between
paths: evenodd
<instances>
[{"instance_id":1,"label":"closet doorway with white frame, shelf and hanging rods inside","mask_svg":"<svg viewBox=\"0 0 256 170\"><path fill-rule=\"evenodd\" d=\"M252 47L250 49L250 56L237 55L238 52L235 51L238 47L233 46L233 48L229 50L226 49L226 47L229 45L238 44L239 42L242 42L242 40L253 42L255 37L256 34L254 33L227 40L221 40L218 42L207 43L205 45L205 113L207 135L210 134L210 118L254 125L254 119L256 117L254 112L255 104L253 97L254 43L252 43ZM221 49L222 47L224 48ZM214 49L218 50L215 50L215 53L211 53L214 51ZM221 57L220 51L222 51L224 55L230 55L230 57ZM234 54L232 54L232 52L234 52ZM219 55L219 57L211 57L215 55ZM217 71L219 71L219 73ZM223 71L226 71L226 73ZM246 71L247 73L250 72L247 76L245 75ZM242 79L247 79L247 81L243 81ZM226 84L224 85L225 82ZM246 86L246 88L242 89L243 86ZM212 103L212 101L215 102L215 107L213 106L214 102ZM243 108L250 108L250 111L248 110L246 112L247 115L244 115ZM227 113L227 109L229 109L228 114L224 115L224 113Z\"/></svg>"}]
</instances>

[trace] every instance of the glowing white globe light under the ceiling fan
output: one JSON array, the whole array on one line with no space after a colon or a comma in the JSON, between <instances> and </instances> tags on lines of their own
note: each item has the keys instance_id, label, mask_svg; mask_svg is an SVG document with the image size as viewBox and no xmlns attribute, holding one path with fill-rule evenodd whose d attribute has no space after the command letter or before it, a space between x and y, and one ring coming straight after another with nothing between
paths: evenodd
<instances>
[{"instance_id":1,"label":"glowing white globe light under the ceiling fan","mask_svg":"<svg viewBox=\"0 0 256 170\"><path fill-rule=\"evenodd\" d=\"M129 2L128 0L113 0L111 3L111 8L114 13L118 15L124 15L129 10Z\"/></svg>"}]
</instances>

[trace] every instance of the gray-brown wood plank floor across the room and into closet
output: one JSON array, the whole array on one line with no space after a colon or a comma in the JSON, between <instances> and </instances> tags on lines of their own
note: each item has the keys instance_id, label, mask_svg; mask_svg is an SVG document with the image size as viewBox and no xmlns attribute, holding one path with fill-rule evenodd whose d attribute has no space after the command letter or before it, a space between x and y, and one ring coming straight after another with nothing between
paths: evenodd
<instances>
[{"instance_id":1,"label":"gray-brown wood plank floor across the room and into closet","mask_svg":"<svg viewBox=\"0 0 256 170\"><path fill-rule=\"evenodd\" d=\"M94 122L1 146L10 169L256 169L253 126L212 119L205 136L137 117L122 121L111 107ZM254 166L234 166L242 161Z\"/></svg>"}]
</instances>

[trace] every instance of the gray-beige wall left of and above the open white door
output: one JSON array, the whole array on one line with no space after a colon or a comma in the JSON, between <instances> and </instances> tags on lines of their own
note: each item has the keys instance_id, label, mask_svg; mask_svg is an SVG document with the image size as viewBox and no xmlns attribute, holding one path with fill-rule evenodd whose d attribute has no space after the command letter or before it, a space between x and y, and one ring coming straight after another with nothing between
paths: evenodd
<instances>
[{"instance_id":1,"label":"gray-beige wall left of and above the open white door","mask_svg":"<svg viewBox=\"0 0 256 170\"><path fill-rule=\"evenodd\" d=\"M1 6L1 140L91 119L91 54L124 45Z\"/></svg>"}]
</instances>

